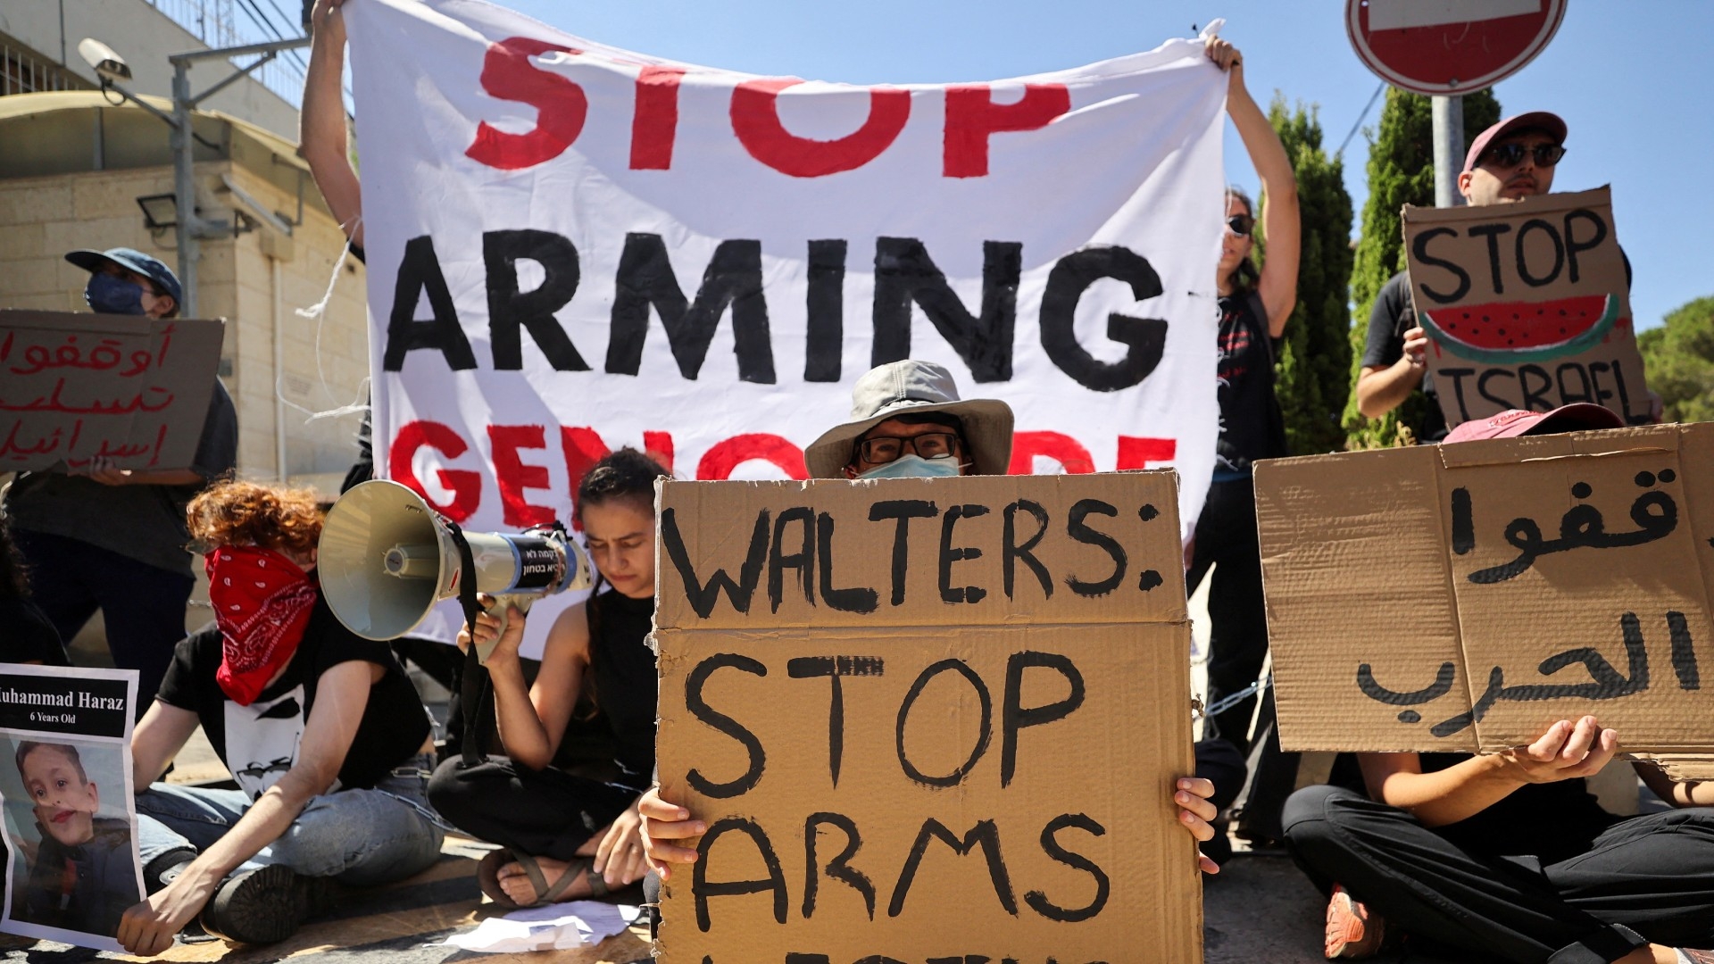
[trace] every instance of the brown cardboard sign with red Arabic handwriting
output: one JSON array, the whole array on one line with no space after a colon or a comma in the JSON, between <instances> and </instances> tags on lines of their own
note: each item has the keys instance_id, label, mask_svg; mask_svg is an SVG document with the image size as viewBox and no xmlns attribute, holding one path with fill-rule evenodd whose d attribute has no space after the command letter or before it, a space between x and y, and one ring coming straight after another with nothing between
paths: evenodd
<instances>
[{"instance_id":1,"label":"brown cardboard sign with red Arabic handwriting","mask_svg":"<svg viewBox=\"0 0 1714 964\"><path fill-rule=\"evenodd\" d=\"M0 310L0 472L189 468L225 322Z\"/></svg>"}]
</instances>

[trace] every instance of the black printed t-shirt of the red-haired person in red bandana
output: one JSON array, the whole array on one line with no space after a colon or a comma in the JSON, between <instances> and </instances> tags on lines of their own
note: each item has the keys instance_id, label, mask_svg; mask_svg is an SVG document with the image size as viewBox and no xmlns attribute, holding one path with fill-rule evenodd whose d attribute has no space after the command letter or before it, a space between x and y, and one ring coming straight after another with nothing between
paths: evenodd
<instances>
[{"instance_id":1,"label":"black printed t-shirt of the red-haired person in red bandana","mask_svg":"<svg viewBox=\"0 0 1714 964\"><path fill-rule=\"evenodd\" d=\"M285 674L262 690L249 707L228 700L214 679L221 664L221 636L216 626L180 640L156 698L197 714L202 732L238 780L238 789L255 799L297 762L303 726L315 708L321 676L350 660L374 662L386 672L369 688L363 720L357 727L333 789L372 787L394 767L417 755L428 738L428 712L417 698L410 678L393 659L391 647L365 640L341 626L327 600L321 597L315 599L303 640L286 664Z\"/></svg>"}]
</instances>

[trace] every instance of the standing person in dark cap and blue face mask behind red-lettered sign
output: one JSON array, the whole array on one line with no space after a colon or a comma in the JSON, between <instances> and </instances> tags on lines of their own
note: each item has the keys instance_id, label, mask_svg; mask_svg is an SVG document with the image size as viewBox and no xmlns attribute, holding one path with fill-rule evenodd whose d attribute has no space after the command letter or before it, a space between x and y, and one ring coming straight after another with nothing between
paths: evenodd
<instances>
[{"instance_id":1,"label":"standing person in dark cap and blue face mask behind red-lettered sign","mask_svg":"<svg viewBox=\"0 0 1714 964\"><path fill-rule=\"evenodd\" d=\"M65 261L89 271L84 300L98 312L178 316L178 276L141 250L82 249ZM113 664L139 672L139 715L185 635L195 587L185 506L237 461L238 413L216 377L189 467L129 470L94 458L77 468L19 473L7 489L3 511L31 569L36 606L67 643L101 611Z\"/></svg>"}]
</instances>

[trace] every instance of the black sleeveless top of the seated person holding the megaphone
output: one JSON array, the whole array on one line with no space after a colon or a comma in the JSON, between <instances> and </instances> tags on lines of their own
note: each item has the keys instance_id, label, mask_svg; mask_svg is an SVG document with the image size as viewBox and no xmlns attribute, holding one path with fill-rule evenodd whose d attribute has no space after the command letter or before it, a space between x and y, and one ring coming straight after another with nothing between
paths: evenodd
<instances>
[{"instance_id":1,"label":"black sleeveless top of the seated person holding the megaphone","mask_svg":"<svg viewBox=\"0 0 1714 964\"><path fill-rule=\"evenodd\" d=\"M655 777L655 698L660 678L648 633L655 621L655 599L631 599L607 590L590 600L595 633L590 636L595 702L612 727L619 777L614 782L638 791Z\"/></svg>"}]
</instances>

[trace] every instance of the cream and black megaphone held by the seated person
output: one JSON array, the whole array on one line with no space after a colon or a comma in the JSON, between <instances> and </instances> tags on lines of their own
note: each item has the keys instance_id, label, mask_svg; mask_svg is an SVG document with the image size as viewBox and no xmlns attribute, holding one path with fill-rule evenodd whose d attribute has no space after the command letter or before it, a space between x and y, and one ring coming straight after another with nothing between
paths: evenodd
<instances>
[{"instance_id":1,"label":"cream and black megaphone held by the seated person","mask_svg":"<svg viewBox=\"0 0 1714 964\"><path fill-rule=\"evenodd\" d=\"M459 539L473 571L464 571ZM317 569L333 614L365 640L410 633L466 580L497 597L500 631L507 606L528 611L535 599L593 581L588 557L564 530L459 532L422 496L384 479L351 487L327 511ZM487 662L492 650L476 647L476 657Z\"/></svg>"}]
</instances>

